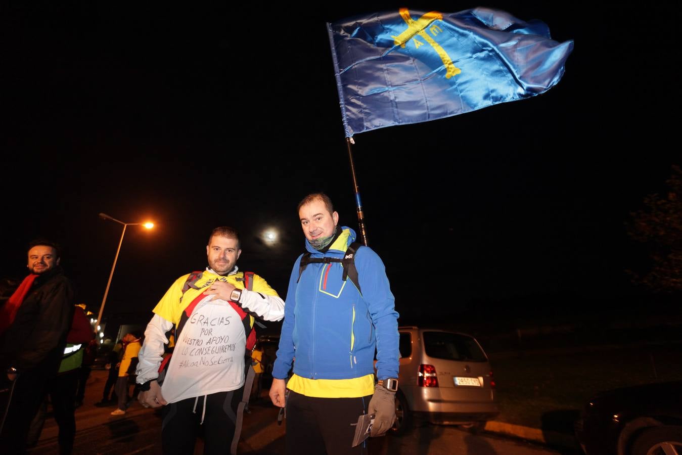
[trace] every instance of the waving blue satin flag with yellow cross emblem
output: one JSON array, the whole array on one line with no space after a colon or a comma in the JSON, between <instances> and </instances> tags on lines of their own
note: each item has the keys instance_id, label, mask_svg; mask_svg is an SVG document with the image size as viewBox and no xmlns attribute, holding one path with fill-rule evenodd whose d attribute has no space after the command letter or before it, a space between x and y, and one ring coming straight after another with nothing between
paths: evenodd
<instances>
[{"instance_id":1,"label":"waving blue satin flag with yellow cross emblem","mask_svg":"<svg viewBox=\"0 0 682 455\"><path fill-rule=\"evenodd\" d=\"M539 20L475 8L374 13L327 23L346 137L547 91L573 41Z\"/></svg>"}]
</instances>

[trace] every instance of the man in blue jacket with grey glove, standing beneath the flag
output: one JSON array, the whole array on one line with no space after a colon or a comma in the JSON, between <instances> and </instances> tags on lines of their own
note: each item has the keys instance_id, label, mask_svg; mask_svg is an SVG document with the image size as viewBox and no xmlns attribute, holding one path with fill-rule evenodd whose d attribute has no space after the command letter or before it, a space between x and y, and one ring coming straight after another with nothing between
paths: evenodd
<instances>
[{"instance_id":1,"label":"man in blue jacket with grey glove, standing beneath the flag","mask_svg":"<svg viewBox=\"0 0 682 455\"><path fill-rule=\"evenodd\" d=\"M372 436L396 418L398 313L385 267L366 246L355 252L357 286L341 260L355 232L339 227L326 194L306 196L298 206L306 250L294 263L286 293L280 347L270 398L284 407L286 453L363 454L351 447L362 414L375 414ZM301 267L301 260L305 267ZM352 275L352 274L351 274ZM358 289L359 288L359 289ZM376 379L374 380L374 349ZM293 376L285 379L293 364Z\"/></svg>"}]
</instances>

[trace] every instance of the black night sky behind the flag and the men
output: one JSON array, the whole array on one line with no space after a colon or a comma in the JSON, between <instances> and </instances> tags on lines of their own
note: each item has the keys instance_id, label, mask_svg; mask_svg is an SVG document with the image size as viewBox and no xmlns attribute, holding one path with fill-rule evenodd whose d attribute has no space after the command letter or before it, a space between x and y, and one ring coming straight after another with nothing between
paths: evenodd
<instances>
[{"instance_id":1,"label":"black night sky behind the flag and the men","mask_svg":"<svg viewBox=\"0 0 682 455\"><path fill-rule=\"evenodd\" d=\"M355 136L370 246L401 322L649 298L624 272L640 261L625 222L682 162L679 116L666 113L680 101L679 12L480 5L544 20L575 48L540 96ZM207 237L223 224L241 231L240 268L284 296L303 251L303 196L327 192L357 230L325 22L400 6L5 7L0 277L25 276L33 237L57 239L96 313L122 227L104 212L156 224L128 227L105 317L151 315L173 280L205 267ZM269 227L275 246L261 240Z\"/></svg>"}]
</instances>

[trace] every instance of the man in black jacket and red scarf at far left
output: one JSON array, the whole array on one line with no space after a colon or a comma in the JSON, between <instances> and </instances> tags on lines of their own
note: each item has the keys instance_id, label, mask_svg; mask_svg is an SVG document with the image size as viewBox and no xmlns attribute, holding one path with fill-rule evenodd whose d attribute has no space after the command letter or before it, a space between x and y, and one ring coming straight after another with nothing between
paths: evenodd
<instances>
[{"instance_id":1,"label":"man in black jacket and red scarf at far left","mask_svg":"<svg viewBox=\"0 0 682 455\"><path fill-rule=\"evenodd\" d=\"M31 420L48 382L57 375L64 352L74 312L74 291L59 259L56 244L44 239L31 242L31 274L10 297L11 321L0 334L1 388L11 390L6 409L0 409L5 411L0 416L3 454L24 452Z\"/></svg>"}]
</instances>

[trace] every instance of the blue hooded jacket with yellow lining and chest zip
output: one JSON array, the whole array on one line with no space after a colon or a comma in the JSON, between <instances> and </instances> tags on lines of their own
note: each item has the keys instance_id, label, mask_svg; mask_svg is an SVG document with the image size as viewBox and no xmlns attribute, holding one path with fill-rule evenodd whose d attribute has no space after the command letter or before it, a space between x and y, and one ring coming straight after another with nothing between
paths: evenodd
<instances>
[{"instance_id":1,"label":"blue hooded jacket with yellow lining and chest zip","mask_svg":"<svg viewBox=\"0 0 682 455\"><path fill-rule=\"evenodd\" d=\"M312 257L343 258L355 231L342 234L324 254L310 246ZM344 238L346 241L344 242ZM366 246L355 254L362 293L342 280L341 263L310 263L299 280L301 256L294 263L286 293L280 347L272 375L293 372L309 379L353 379L374 372L378 379L398 377L398 313L385 267ZM298 280L298 282L297 282Z\"/></svg>"}]
</instances>

